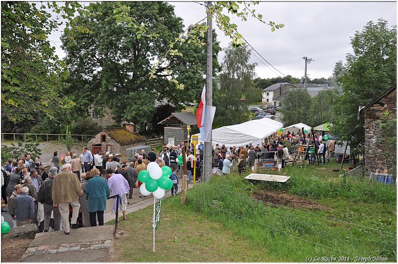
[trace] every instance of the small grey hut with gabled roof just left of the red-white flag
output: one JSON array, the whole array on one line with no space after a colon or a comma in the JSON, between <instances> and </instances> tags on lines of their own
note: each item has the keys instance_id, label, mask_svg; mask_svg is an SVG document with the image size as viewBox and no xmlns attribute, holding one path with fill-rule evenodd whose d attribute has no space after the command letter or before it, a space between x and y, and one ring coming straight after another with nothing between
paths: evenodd
<instances>
[{"instance_id":1,"label":"small grey hut with gabled roof just left of the red-white flag","mask_svg":"<svg viewBox=\"0 0 398 264\"><path fill-rule=\"evenodd\" d=\"M164 144L178 145L188 140L188 126L196 125L196 115L194 113L171 113L169 117L160 121L158 124L164 127Z\"/></svg>"}]
</instances>

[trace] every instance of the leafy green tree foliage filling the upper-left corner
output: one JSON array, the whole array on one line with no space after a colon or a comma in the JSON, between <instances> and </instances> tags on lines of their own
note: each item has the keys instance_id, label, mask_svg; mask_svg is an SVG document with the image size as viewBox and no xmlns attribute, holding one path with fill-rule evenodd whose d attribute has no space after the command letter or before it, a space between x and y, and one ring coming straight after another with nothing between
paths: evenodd
<instances>
[{"instance_id":1,"label":"leafy green tree foliage filling the upper-left corner","mask_svg":"<svg viewBox=\"0 0 398 264\"><path fill-rule=\"evenodd\" d=\"M35 2L1 2L1 116L14 124L34 121L35 112L54 118L57 110L73 105L61 95L68 73L48 38L62 23L48 10L62 11L69 21L82 8L77 2L66 2L63 7L55 2L47 2L47 7L45 3L37 7Z\"/></svg>"}]
</instances>

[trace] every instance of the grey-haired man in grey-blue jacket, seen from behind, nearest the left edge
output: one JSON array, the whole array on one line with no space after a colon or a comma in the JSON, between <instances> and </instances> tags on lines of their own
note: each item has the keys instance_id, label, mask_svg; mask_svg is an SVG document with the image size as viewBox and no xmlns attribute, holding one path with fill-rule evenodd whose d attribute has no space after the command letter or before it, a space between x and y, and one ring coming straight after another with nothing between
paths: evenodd
<instances>
[{"instance_id":1,"label":"grey-haired man in grey-blue jacket, seen from behind, nearest the left edge","mask_svg":"<svg viewBox=\"0 0 398 264\"><path fill-rule=\"evenodd\" d=\"M15 219L17 226L29 225L35 216L33 198L28 195L29 188L23 187L21 195L14 199Z\"/></svg>"}]
</instances>

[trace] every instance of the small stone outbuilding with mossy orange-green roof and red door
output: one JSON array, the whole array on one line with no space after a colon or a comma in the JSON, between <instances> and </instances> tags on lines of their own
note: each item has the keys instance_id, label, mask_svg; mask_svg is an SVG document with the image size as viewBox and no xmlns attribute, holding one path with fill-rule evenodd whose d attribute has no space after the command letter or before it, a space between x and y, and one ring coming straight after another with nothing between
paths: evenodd
<instances>
[{"instance_id":1,"label":"small stone outbuilding with mossy orange-green roof and red door","mask_svg":"<svg viewBox=\"0 0 398 264\"><path fill-rule=\"evenodd\" d=\"M134 124L125 122L123 127L108 127L102 129L87 143L87 148L95 154L102 153L126 154L126 149L145 145L145 138L134 132Z\"/></svg>"}]
</instances>

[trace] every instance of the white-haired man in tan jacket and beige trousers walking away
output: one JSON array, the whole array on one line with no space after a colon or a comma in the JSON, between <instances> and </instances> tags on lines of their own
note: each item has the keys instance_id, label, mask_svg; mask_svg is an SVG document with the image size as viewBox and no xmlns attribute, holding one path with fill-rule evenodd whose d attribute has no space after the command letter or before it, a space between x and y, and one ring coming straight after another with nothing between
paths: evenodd
<instances>
[{"instance_id":1,"label":"white-haired man in tan jacket and beige trousers walking away","mask_svg":"<svg viewBox=\"0 0 398 264\"><path fill-rule=\"evenodd\" d=\"M62 229L65 234L70 233L70 228L79 228L76 225L79 215L80 203L79 196L82 196L82 185L77 180L76 174L72 173L70 163L62 166L62 172L56 175L52 184L51 197L53 206L59 209L61 214ZM69 226L69 205L73 208L72 219Z\"/></svg>"}]
</instances>

